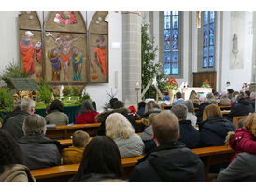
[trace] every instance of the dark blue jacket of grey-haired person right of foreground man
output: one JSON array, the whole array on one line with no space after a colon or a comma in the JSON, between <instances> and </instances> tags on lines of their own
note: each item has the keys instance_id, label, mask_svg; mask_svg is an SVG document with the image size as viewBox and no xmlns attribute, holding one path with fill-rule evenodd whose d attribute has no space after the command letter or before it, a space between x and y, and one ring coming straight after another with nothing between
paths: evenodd
<instances>
[{"instance_id":1,"label":"dark blue jacket of grey-haired person right of foreground man","mask_svg":"<svg viewBox=\"0 0 256 192\"><path fill-rule=\"evenodd\" d=\"M179 133L178 141L186 144L188 148L200 147L200 133L192 126L190 120L179 121Z\"/></svg>"}]
</instances>

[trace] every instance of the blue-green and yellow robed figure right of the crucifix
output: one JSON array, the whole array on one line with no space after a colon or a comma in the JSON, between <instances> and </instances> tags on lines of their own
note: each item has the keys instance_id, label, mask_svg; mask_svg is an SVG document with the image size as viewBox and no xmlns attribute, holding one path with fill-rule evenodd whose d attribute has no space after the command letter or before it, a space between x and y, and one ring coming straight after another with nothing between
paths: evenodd
<instances>
[{"instance_id":1,"label":"blue-green and yellow robed figure right of the crucifix","mask_svg":"<svg viewBox=\"0 0 256 192\"><path fill-rule=\"evenodd\" d=\"M81 81L81 70L84 55L79 52L77 47L72 48L72 62L73 62L73 80Z\"/></svg>"}]
</instances>

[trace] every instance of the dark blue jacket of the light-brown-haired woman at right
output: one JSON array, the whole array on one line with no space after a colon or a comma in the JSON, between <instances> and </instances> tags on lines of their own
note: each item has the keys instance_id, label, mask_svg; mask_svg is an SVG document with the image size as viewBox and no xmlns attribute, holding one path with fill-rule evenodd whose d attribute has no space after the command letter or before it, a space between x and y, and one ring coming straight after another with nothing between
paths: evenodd
<instances>
[{"instance_id":1,"label":"dark blue jacket of the light-brown-haired woman at right","mask_svg":"<svg viewBox=\"0 0 256 192\"><path fill-rule=\"evenodd\" d=\"M221 117L212 117L199 124L201 147L220 146L230 131L235 131L235 125Z\"/></svg>"}]
</instances>

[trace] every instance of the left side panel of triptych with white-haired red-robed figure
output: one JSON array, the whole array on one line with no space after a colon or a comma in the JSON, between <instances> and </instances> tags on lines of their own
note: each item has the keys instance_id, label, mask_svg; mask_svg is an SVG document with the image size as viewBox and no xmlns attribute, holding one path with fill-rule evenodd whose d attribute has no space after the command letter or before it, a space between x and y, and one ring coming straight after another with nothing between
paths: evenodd
<instances>
[{"instance_id":1,"label":"left side panel of triptych with white-haired red-robed figure","mask_svg":"<svg viewBox=\"0 0 256 192\"><path fill-rule=\"evenodd\" d=\"M41 24L36 11L22 11L19 15L19 49L21 71L39 81L42 76Z\"/></svg>"}]
</instances>

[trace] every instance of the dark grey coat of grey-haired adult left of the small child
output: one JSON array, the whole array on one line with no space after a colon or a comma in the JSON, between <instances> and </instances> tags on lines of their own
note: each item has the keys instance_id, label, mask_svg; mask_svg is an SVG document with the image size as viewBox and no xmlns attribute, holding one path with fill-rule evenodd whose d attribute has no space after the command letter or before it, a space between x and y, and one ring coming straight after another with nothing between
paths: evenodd
<instances>
[{"instance_id":1,"label":"dark grey coat of grey-haired adult left of the small child","mask_svg":"<svg viewBox=\"0 0 256 192\"><path fill-rule=\"evenodd\" d=\"M18 141L25 158L26 166L31 169L61 165L58 146L60 143L43 135L23 136Z\"/></svg>"}]
</instances>

